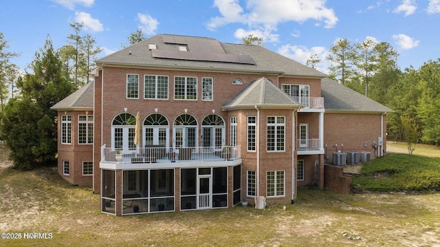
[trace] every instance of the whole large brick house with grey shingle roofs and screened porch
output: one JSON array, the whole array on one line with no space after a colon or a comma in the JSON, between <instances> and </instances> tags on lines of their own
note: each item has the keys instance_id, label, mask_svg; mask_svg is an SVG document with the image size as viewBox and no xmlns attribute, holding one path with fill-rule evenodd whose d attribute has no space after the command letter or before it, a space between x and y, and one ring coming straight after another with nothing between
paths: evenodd
<instances>
[{"instance_id":1,"label":"whole large brick house with grey shingle roofs and screened porch","mask_svg":"<svg viewBox=\"0 0 440 247\"><path fill-rule=\"evenodd\" d=\"M391 109L265 47L159 34L96 63L52 109L58 173L102 213L293 203L325 163L386 149Z\"/></svg>"}]
</instances>

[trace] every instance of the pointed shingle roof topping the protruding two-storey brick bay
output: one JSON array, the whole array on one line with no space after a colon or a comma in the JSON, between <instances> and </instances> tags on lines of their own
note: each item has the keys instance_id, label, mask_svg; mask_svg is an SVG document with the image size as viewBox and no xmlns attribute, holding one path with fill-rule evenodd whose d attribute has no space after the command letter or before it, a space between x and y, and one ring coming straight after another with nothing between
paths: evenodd
<instances>
[{"instance_id":1,"label":"pointed shingle roof topping the protruding two-storey brick bay","mask_svg":"<svg viewBox=\"0 0 440 247\"><path fill-rule=\"evenodd\" d=\"M259 78L228 101L223 110L245 108L298 109L300 104L290 98L267 78Z\"/></svg>"}]
</instances>

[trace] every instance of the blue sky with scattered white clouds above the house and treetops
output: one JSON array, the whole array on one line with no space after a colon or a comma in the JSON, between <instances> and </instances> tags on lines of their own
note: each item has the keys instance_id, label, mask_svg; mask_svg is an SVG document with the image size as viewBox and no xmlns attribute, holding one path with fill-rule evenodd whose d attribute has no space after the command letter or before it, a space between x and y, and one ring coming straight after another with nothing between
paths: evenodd
<instances>
[{"instance_id":1,"label":"blue sky with scattered white clouds above the house and treetops","mask_svg":"<svg viewBox=\"0 0 440 247\"><path fill-rule=\"evenodd\" d=\"M325 56L338 39L388 42L399 53L397 64L419 68L440 58L440 0L3 0L0 32L11 60L24 69L43 47L47 34L54 48L67 45L69 23L83 22L102 47L99 57L118 51L142 28L155 34L206 36L241 43L248 34L263 44L305 63L318 54L318 69L327 73Z\"/></svg>"}]
</instances>

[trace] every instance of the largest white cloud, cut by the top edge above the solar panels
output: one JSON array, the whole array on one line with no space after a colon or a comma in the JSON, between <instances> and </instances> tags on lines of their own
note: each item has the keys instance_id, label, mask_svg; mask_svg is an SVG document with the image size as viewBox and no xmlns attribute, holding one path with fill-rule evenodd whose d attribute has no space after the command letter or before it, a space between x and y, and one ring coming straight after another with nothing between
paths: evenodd
<instances>
[{"instance_id":1,"label":"largest white cloud, cut by the top edge above the solar panels","mask_svg":"<svg viewBox=\"0 0 440 247\"><path fill-rule=\"evenodd\" d=\"M249 30L236 30L236 35L261 32L266 41L278 41L278 35L272 32L280 23L315 20L318 25L323 23L325 28L333 28L338 17L325 3L326 0L248 0L244 10L239 0L215 0L214 7L219 9L220 16L212 17L206 27L216 30L229 23L242 23L248 25Z\"/></svg>"}]
</instances>

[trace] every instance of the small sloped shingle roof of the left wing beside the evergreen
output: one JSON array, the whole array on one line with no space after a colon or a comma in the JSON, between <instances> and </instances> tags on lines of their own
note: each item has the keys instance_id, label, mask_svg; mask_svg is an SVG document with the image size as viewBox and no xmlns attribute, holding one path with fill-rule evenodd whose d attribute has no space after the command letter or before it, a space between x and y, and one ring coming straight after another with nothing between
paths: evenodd
<instances>
[{"instance_id":1,"label":"small sloped shingle roof of the left wing beside the evergreen","mask_svg":"<svg viewBox=\"0 0 440 247\"><path fill-rule=\"evenodd\" d=\"M54 110L74 110L74 109L94 109L94 83L88 83L76 90L50 109Z\"/></svg>"}]
</instances>

